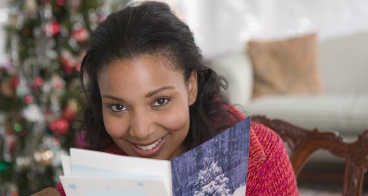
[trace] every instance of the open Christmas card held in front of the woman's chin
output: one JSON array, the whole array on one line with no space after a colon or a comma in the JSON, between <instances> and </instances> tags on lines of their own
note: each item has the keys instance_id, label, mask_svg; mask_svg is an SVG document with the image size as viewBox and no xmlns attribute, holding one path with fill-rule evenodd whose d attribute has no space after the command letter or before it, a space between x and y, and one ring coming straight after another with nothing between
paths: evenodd
<instances>
[{"instance_id":1,"label":"open Christmas card held in front of the woman's chin","mask_svg":"<svg viewBox=\"0 0 368 196\"><path fill-rule=\"evenodd\" d=\"M70 149L67 196L245 196L250 117L174 159Z\"/></svg>"}]
</instances>

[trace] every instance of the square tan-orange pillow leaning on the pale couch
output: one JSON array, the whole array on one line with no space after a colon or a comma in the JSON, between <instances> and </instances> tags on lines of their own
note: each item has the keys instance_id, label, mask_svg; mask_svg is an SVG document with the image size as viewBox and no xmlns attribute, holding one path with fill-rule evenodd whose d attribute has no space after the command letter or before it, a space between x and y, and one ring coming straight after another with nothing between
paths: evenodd
<instances>
[{"instance_id":1,"label":"square tan-orange pillow leaning on the pale couch","mask_svg":"<svg viewBox=\"0 0 368 196\"><path fill-rule=\"evenodd\" d=\"M282 41L250 41L248 54L254 70L253 98L323 92L315 33Z\"/></svg>"}]
</instances>

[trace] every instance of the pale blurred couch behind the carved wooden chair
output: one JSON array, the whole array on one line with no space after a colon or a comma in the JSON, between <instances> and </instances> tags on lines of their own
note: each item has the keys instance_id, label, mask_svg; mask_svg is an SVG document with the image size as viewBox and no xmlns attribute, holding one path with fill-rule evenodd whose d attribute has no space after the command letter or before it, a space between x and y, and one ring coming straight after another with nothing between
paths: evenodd
<instances>
[{"instance_id":1,"label":"pale blurred couch behind the carved wooden chair","mask_svg":"<svg viewBox=\"0 0 368 196\"><path fill-rule=\"evenodd\" d=\"M254 69L247 49L209 60L228 80L225 94L246 115L265 115L298 127L337 131L347 142L368 129L368 33L317 43L321 94L280 94L253 98ZM315 161L338 161L323 152Z\"/></svg>"}]
</instances>

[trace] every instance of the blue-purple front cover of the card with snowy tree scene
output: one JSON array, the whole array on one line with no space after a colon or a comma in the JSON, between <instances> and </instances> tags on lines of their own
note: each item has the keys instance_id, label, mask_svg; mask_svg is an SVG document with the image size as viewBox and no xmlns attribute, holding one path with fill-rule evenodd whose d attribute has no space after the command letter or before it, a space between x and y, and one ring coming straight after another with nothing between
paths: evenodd
<instances>
[{"instance_id":1,"label":"blue-purple front cover of the card with snowy tree scene","mask_svg":"<svg viewBox=\"0 0 368 196\"><path fill-rule=\"evenodd\" d=\"M250 118L171 160L173 196L244 196Z\"/></svg>"}]
</instances>

